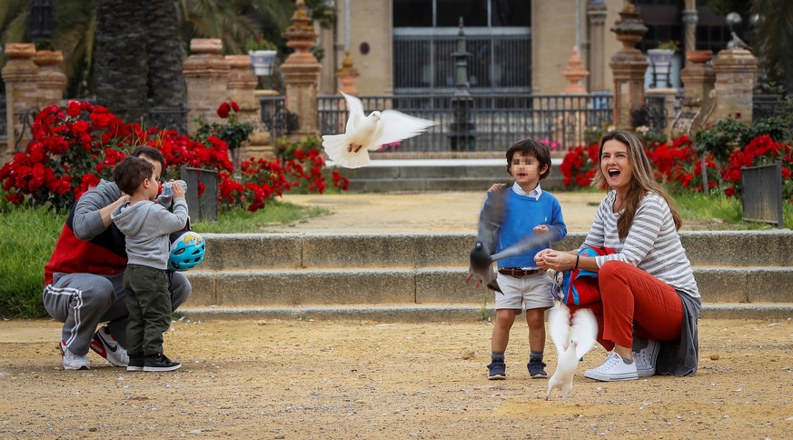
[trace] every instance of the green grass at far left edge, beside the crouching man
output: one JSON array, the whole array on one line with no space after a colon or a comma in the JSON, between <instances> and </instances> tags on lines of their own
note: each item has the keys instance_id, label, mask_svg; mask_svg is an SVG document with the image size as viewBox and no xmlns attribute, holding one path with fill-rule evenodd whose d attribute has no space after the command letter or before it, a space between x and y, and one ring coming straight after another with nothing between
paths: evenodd
<instances>
[{"instance_id":1,"label":"green grass at far left edge, beside the crouching man","mask_svg":"<svg viewBox=\"0 0 793 440\"><path fill-rule=\"evenodd\" d=\"M0 213L0 313L3 318L46 315L44 267L66 215L44 207Z\"/></svg>"}]
</instances>

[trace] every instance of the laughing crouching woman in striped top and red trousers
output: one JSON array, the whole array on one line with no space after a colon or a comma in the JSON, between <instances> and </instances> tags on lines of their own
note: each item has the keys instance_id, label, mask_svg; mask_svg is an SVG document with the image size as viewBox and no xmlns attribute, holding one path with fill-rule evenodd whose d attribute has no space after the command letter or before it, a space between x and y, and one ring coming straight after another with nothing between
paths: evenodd
<instances>
[{"instance_id":1,"label":"laughing crouching woman in striped top and red trousers","mask_svg":"<svg viewBox=\"0 0 793 440\"><path fill-rule=\"evenodd\" d=\"M599 157L592 186L605 185L608 193L580 249L606 246L616 254L590 257L545 249L535 256L542 268L598 272L600 301L571 307L595 313L598 342L609 350L606 362L584 376L614 381L693 375L701 300L680 243L674 202L655 181L636 135L604 135Z\"/></svg>"}]
</instances>

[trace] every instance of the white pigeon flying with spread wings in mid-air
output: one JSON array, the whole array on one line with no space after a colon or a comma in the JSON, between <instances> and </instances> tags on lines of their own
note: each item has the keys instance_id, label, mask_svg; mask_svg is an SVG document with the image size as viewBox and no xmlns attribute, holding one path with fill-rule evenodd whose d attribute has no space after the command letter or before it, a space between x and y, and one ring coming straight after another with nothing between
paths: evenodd
<instances>
[{"instance_id":1,"label":"white pigeon flying with spread wings in mid-air","mask_svg":"<svg viewBox=\"0 0 793 440\"><path fill-rule=\"evenodd\" d=\"M408 137L421 135L438 123L405 115L396 110L374 111L363 115L363 104L355 96L340 92L350 116L342 135L323 135L322 146L337 165L360 168L369 164L369 151Z\"/></svg>"}]
</instances>

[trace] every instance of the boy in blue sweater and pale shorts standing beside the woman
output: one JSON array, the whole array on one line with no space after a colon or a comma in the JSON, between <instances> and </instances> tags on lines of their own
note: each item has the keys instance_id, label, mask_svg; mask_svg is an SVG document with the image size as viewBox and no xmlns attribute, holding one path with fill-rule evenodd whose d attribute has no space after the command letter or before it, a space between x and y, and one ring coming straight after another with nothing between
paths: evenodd
<instances>
[{"instance_id":1,"label":"boy in blue sweater and pale shorts standing beside the woman","mask_svg":"<svg viewBox=\"0 0 793 440\"><path fill-rule=\"evenodd\" d=\"M533 139L521 139L507 150L507 172L515 179L506 188L495 184L488 191L488 201L496 191L504 191L504 209L498 229L495 252L520 242L527 235L548 233L552 241L567 235L567 226L561 216L559 200L540 189L540 180L550 174L548 145ZM550 244L538 245L522 255L504 258L498 262L498 284L502 293L496 292L496 322L491 338L491 364L488 379L506 379L504 352L510 340L510 328L515 317L526 309L529 325L529 375L532 378L548 377L542 354L545 350L545 310L553 306L550 296L550 279L534 262L534 255Z\"/></svg>"}]
</instances>

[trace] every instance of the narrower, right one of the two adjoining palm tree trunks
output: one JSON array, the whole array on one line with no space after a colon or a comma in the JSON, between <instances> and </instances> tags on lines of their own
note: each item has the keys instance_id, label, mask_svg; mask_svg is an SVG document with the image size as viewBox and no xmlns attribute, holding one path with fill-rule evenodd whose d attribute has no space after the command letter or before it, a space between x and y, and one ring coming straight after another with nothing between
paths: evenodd
<instances>
[{"instance_id":1,"label":"narrower, right one of the two adjoining palm tree trunks","mask_svg":"<svg viewBox=\"0 0 793 440\"><path fill-rule=\"evenodd\" d=\"M148 0L145 7L149 108L160 128L187 130L186 92L182 75L184 51L179 16L173 0Z\"/></svg>"}]
</instances>

